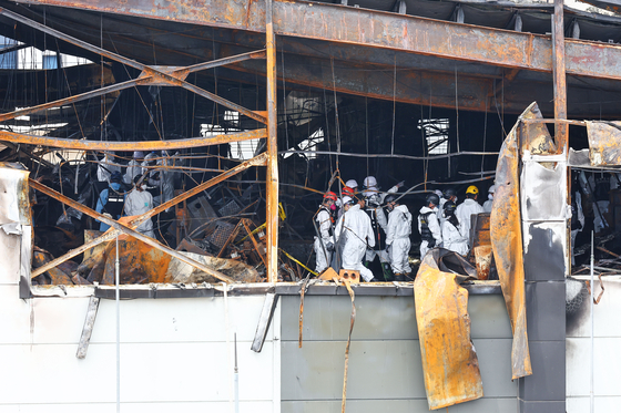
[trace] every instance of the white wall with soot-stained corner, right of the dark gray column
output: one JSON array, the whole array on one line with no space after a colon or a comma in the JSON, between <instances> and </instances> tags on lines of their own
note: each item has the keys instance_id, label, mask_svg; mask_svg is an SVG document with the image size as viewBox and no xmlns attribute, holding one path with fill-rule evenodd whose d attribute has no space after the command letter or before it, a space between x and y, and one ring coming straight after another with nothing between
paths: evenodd
<instances>
[{"instance_id":1,"label":"white wall with soot-stained corner, right of the dark gray column","mask_svg":"<svg viewBox=\"0 0 621 413\"><path fill-rule=\"evenodd\" d=\"M621 410L621 277L602 277L605 291L594 306L594 411ZM599 280L595 297L599 295ZM568 317L567 412L590 412L591 320L588 298Z\"/></svg>"}]
</instances>

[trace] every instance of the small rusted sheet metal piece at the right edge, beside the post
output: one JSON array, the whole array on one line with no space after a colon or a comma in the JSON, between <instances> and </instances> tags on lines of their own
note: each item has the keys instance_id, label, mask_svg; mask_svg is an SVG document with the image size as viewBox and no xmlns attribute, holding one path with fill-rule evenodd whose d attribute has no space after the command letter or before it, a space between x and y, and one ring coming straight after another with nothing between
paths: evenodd
<instances>
[{"instance_id":1,"label":"small rusted sheet metal piece at the right edge, beside the post","mask_svg":"<svg viewBox=\"0 0 621 413\"><path fill-rule=\"evenodd\" d=\"M621 122L587 122L592 166L621 165Z\"/></svg>"}]
</instances>

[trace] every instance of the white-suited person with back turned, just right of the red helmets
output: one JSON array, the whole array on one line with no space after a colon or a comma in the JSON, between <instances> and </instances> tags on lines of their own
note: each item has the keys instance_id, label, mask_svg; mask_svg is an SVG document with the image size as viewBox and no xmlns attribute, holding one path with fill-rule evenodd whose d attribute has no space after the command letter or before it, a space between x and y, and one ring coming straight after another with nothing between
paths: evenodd
<instances>
[{"instance_id":1,"label":"white-suited person with back turned, just right of the red helmets","mask_svg":"<svg viewBox=\"0 0 621 413\"><path fill-rule=\"evenodd\" d=\"M367 247L373 248L375 240L370 219L363 210L360 204L354 205L354 200L346 196L343 198L345 214L340 217L335 228L335 239L342 245L342 267L344 269L360 271L360 277L373 282L373 272L363 266L363 258Z\"/></svg>"}]
</instances>

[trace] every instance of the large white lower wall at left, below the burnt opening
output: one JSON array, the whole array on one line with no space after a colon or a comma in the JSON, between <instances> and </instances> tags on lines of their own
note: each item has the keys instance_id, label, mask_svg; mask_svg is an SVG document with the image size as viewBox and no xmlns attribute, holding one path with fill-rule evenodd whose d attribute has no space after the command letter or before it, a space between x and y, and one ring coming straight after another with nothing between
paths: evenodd
<instances>
[{"instance_id":1,"label":"large white lower wall at left, below the burnt opening","mask_svg":"<svg viewBox=\"0 0 621 413\"><path fill-rule=\"evenodd\" d=\"M0 230L0 412L115 412L115 302L101 301L77 359L89 299L20 300L19 247ZM263 301L228 298L228 348L222 297L121 301L121 411L231 412L236 332L241 412L279 412L278 310L263 351L250 349Z\"/></svg>"}]
</instances>

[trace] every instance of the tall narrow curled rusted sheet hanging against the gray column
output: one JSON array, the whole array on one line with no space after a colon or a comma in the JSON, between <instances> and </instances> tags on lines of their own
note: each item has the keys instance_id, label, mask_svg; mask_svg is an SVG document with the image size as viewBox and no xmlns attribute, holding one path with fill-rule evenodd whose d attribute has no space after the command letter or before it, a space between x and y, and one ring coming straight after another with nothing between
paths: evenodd
<instances>
[{"instance_id":1,"label":"tall narrow curled rusted sheet hanging against the gray column","mask_svg":"<svg viewBox=\"0 0 621 413\"><path fill-rule=\"evenodd\" d=\"M493 209L490 218L491 246L496 268L513 332L511 349L512 379L532 374L526 329L518 130L522 117L537 116L536 107L537 104L532 103L525 111L502 144L496 167L496 194L493 195Z\"/></svg>"}]
</instances>

